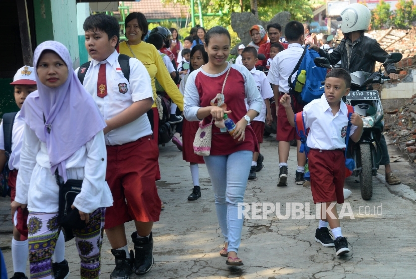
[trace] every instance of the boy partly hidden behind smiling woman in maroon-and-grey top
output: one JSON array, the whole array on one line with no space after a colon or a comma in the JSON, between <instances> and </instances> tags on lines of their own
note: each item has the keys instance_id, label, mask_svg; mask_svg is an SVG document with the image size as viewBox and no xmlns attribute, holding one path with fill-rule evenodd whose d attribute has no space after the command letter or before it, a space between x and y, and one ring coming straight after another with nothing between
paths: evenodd
<instances>
[{"instance_id":1,"label":"boy partly hidden behind smiling woman in maroon-and-grey top","mask_svg":"<svg viewBox=\"0 0 416 279\"><path fill-rule=\"evenodd\" d=\"M263 133L264 133L264 123L265 120L268 125L272 123L272 114L270 112L270 101L269 98L273 97L273 90L270 86L269 82L267 81L266 74L262 71L256 70L256 63L257 59L257 50L254 47L247 47L244 48L242 51L242 62L243 65L250 71L253 75L254 80L256 81L257 89L260 91L260 95L264 100L262 103L262 110L260 111L259 115L257 115L252 121L250 121L250 125L254 130L254 133L257 137L257 142L259 143L259 152L253 153L253 161L251 163L249 179L253 180L256 178L256 172L260 172L263 169L263 155L260 154L260 144L263 143ZM247 109L248 104L246 103Z\"/></svg>"}]
</instances>

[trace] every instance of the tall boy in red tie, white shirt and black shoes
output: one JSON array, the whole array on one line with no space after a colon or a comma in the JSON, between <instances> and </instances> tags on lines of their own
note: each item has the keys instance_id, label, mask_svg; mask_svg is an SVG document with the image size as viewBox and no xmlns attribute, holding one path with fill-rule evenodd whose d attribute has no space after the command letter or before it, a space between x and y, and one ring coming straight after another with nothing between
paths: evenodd
<instances>
[{"instance_id":1,"label":"tall boy in red tie, white shirt and black shoes","mask_svg":"<svg viewBox=\"0 0 416 279\"><path fill-rule=\"evenodd\" d=\"M129 58L129 80L123 75L115 50L119 25L114 17L92 15L83 28L85 47L92 58L84 87L107 124L106 181L114 202L106 209L104 228L116 262L110 278L129 278L131 273L142 275L153 266L151 230L161 209L154 179L159 151L146 114L153 104L152 86L146 68L135 58ZM131 235L134 258L124 228L124 223L131 220L135 223Z\"/></svg>"}]
</instances>

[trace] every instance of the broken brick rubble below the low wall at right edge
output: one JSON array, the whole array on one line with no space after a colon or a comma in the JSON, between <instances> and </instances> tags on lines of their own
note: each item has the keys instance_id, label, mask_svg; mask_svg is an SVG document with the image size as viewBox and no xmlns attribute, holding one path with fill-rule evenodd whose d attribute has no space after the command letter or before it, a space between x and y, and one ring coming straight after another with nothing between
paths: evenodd
<instances>
[{"instance_id":1,"label":"broken brick rubble below the low wall at right edge","mask_svg":"<svg viewBox=\"0 0 416 279\"><path fill-rule=\"evenodd\" d=\"M391 144L416 163L416 95L402 107L384 114L384 132L390 135Z\"/></svg>"}]
</instances>

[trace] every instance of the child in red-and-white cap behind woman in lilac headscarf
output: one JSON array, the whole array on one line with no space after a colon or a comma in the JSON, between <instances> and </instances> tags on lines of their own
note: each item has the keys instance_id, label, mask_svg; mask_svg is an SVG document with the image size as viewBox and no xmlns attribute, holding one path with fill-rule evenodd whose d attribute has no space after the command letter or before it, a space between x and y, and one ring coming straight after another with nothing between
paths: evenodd
<instances>
[{"instance_id":1,"label":"child in red-and-white cap behind woman in lilac headscarf","mask_svg":"<svg viewBox=\"0 0 416 279\"><path fill-rule=\"evenodd\" d=\"M30 66L23 66L20 68L16 72L11 85L14 86L16 104L19 109L21 109L26 97L37 90L34 68ZM10 169L8 185L11 188L10 194L12 202L16 197L16 179L20 167L20 153L22 149L24 127L25 120L20 115L20 111L18 111L14 117L12 129L12 153L8 155ZM4 169L6 162L4 122L2 121L0 124L0 171ZM28 227L26 225L28 214L27 208L19 209L16 211L13 218L12 259L14 275L11 279L28 278L25 275L29 256ZM62 232L57 241L53 261L54 263L52 266L55 278L62 279L69 274L68 262L65 260L65 240Z\"/></svg>"}]
</instances>

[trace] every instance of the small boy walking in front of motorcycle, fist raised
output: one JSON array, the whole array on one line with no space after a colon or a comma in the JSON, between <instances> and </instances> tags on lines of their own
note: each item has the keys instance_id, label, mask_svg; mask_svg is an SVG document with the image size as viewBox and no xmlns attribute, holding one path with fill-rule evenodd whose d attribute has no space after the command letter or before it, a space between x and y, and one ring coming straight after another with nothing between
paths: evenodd
<instances>
[{"instance_id":1,"label":"small boy walking in front of motorcycle, fist raised","mask_svg":"<svg viewBox=\"0 0 416 279\"><path fill-rule=\"evenodd\" d=\"M321 203L319 227L315 231L315 240L324 247L335 246L336 255L349 252L347 238L342 236L336 210L337 203L344 203L346 134L348 110L341 101L350 90L351 77L344 69L334 69L325 78L325 93L305 105L302 112L305 129L309 128L307 146L309 151L309 172L314 203ZM291 98L284 94L280 103L285 108L289 123L295 126L295 114L291 107ZM350 137L359 141L363 122L357 113L351 115ZM335 137L334 137L335 135ZM331 238L331 228L335 241Z\"/></svg>"}]
</instances>

